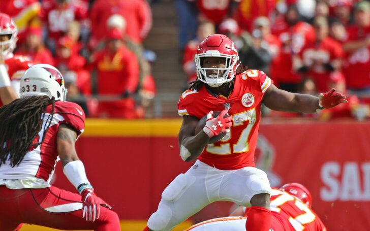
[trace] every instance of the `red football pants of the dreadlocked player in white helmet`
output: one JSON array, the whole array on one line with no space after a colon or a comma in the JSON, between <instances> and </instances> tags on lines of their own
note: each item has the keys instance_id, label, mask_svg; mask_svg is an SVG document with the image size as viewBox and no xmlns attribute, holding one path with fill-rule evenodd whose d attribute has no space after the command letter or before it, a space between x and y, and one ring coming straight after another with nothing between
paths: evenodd
<instances>
[{"instance_id":1,"label":"red football pants of the dreadlocked player in white helmet","mask_svg":"<svg viewBox=\"0 0 370 231\"><path fill-rule=\"evenodd\" d=\"M71 209L72 206L80 208L78 203L81 203L79 194L56 187L8 189L2 185L0 186L0 230L17 230L20 223L65 230L121 230L118 215L112 210L101 206L99 219L89 222L82 218L81 209ZM57 205L64 206L55 207Z\"/></svg>"}]
</instances>

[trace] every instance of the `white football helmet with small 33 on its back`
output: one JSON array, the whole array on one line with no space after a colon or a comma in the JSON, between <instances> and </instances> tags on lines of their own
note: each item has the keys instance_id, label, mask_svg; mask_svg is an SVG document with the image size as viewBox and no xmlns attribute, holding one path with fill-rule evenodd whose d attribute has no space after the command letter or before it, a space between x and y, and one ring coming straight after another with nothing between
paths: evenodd
<instances>
[{"instance_id":1,"label":"white football helmet with small 33 on its back","mask_svg":"<svg viewBox=\"0 0 370 231\"><path fill-rule=\"evenodd\" d=\"M49 64L36 64L29 67L20 80L20 97L47 95L55 100L65 101L67 88L63 76Z\"/></svg>"}]
</instances>

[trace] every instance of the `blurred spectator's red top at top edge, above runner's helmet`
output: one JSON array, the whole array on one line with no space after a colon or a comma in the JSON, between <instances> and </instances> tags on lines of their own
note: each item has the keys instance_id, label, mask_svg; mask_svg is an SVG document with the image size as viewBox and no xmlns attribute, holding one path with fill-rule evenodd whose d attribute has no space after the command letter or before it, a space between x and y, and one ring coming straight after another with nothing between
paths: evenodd
<instances>
[{"instance_id":1,"label":"blurred spectator's red top at top edge, above runner's helmet","mask_svg":"<svg viewBox=\"0 0 370 231\"><path fill-rule=\"evenodd\" d=\"M217 25L226 18L231 2L232 0L198 0L197 7L205 18Z\"/></svg>"}]
</instances>

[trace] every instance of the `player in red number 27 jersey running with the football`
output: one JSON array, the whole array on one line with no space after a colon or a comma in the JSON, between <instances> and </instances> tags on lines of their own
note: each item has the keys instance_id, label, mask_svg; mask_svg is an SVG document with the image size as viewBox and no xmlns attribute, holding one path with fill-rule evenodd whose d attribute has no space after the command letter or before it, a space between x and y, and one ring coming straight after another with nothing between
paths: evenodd
<instances>
[{"instance_id":1,"label":"player in red number 27 jersey running with the football","mask_svg":"<svg viewBox=\"0 0 370 231\"><path fill-rule=\"evenodd\" d=\"M347 102L334 89L319 97L280 90L263 72L244 70L238 59L234 43L224 35L210 35L200 43L195 55L198 80L178 102L183 116L180 156L184 161L198 160L163 191L144 230L170 230L215 201L251 204L246 229L269 230L271 188L267 175L254 163L261 104L314 113ZM213 116L213 111L222 112ZM205 115L203 130L195 134ZM209 143L221 133L226 133L224 138Z\"/></svg>"}]
</instances>

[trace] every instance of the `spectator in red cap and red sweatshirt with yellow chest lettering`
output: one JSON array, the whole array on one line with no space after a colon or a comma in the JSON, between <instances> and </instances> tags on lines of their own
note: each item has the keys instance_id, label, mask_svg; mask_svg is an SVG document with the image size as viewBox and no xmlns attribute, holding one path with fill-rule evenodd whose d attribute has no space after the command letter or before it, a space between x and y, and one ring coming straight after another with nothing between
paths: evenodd
<instances>
[{"instance_id":1,"label":"spectator in red cap and red sweatshirt with yellow chest lettering","mask_svg":"<svg viewBox=\"0 0 370 231\"><path fill-rule=\"evenodd\" d=\"M107 97L107 101L99 102L100 117L137 118L133 92L139 83L139 66L135 54L122 39L122 32L112 29L106 36L106 48L92 58L91 64L97 69L98 93Z\"/></svg>"}]
</instances>

